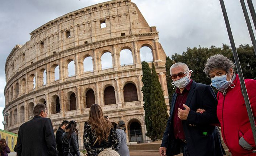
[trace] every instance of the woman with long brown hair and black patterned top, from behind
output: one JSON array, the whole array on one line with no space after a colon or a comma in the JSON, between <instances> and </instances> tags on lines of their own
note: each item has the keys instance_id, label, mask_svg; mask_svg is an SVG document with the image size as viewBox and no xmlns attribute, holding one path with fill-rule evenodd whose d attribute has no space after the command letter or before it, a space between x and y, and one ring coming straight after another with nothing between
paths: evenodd
<instances>
[{"instance_id":1,"label":"woman with long brown hair and black patterned top, from behind","mask_svg":"<svg viewBox=\"0 0 256 156\"><path fill-rule=\"evenodd\" d=\"M115 129L97 104L91 105L89 119L84 123L83 143L88 156L98 156L106 148L115 150L119 143Z\"/></svg>"}]
</instances>

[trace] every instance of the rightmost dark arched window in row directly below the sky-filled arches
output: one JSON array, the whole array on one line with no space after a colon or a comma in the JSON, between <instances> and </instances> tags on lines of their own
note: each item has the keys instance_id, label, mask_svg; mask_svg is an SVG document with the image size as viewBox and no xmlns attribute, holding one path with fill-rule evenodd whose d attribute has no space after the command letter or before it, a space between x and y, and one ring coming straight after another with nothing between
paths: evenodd
<instances>
[{"instance_id":1,"label":"rightmost dark arched window in row directly below the sky-filled arches","mask_svg":"<svg viewBox=\"0 0 256 156\"><path fill-rule=\"evenodd\" d=\"M128 83L124 86L124 102L138 101L137 88L134 84Z\"/></svg>"}]
</instances>

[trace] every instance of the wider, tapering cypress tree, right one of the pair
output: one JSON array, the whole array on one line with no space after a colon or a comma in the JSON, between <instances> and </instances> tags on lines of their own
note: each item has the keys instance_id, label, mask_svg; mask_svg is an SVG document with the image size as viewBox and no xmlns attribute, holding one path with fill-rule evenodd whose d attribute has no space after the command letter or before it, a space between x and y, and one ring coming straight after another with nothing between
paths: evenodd
<instances>
[{"instance_id":1,"label":"wider, tapering cypress tree, right one of the pair","mask_svg":"<svg viewBox=\"0 0 256 156\"><path fill-rule=\"evenodd\" d=\"M168 119L167 107L165 104L163 90L156 73L154 63L152 63L152 79L151 79L151 92L150 92L150 110L152 121L152 137L154 141L161 139Z\"/></svg>"}]
</instances>

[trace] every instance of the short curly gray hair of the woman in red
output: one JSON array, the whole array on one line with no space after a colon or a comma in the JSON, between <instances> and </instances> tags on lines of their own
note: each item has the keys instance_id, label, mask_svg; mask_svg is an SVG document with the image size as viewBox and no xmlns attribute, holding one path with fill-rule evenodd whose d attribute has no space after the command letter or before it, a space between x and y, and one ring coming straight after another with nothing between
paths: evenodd
<instances>
[{"instance_id":1,"label":"short curly gray hair of the woman in red","mask_svg":"<svg viewBox=\"0 0 256 156\"><path fill-rule=\"evenodd\" d=\"M232 68L234 71L234 67L235 64L226 56L216 54L207 59L204 72L206 73L206 76L210 78L210 72L214 71L215 69L222 69L227 73L230 73L230 68Z\"/></svg>"}]
</instances>

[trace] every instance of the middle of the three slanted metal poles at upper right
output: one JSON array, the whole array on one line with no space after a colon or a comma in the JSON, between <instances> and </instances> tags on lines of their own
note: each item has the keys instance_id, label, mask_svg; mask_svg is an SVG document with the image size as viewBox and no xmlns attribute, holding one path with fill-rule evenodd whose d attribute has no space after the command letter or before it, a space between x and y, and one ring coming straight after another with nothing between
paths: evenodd
<instances>
[{"instance_id":1,"label":"middle of the three slanted metal poles at upper right","mask_svg":"<svg viewBox=\"0 0 256 156\"><path fill-rule=\"evenodd\" d=\"M248 27L248 31L249 31L249 34L250 34L250 37L251 37L251 40L252 40L252 46L253 46L253 49L254 49L254 53L256 55L256 41L255 41L255 36L253 34L252 25L251 25L251 22L250 22L250 19L249 19L249 16L248 16L248 12L247 12L244 0L240 0L240 2L241 2L241 6L242 6L242 9L243 9L243 12L244 12L244 18L245 18L245 21L246 21L246 24L247 24L247 27Z\"/></svg>"}]
</instances>

